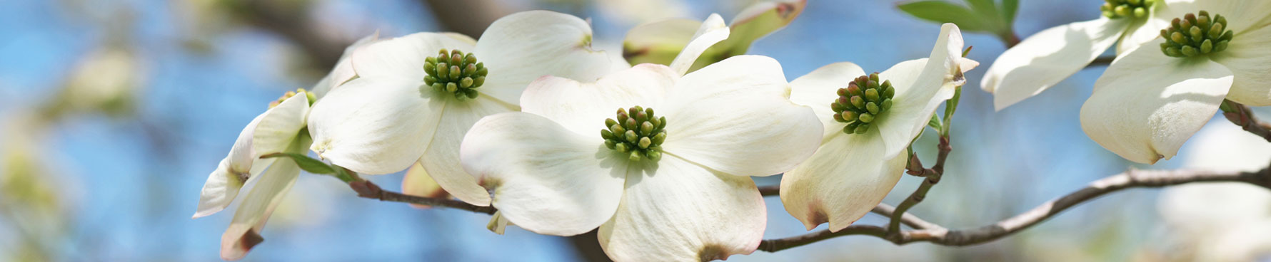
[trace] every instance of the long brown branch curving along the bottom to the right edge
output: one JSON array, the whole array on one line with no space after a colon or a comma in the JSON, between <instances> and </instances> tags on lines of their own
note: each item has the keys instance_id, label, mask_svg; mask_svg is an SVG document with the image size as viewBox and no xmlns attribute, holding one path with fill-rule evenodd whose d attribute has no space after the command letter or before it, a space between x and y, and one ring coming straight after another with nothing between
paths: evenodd
<instances>
[{"instance_id":1,"label":"long brown branch curving along the bottom to the right edge","mask_svg":"<svg viewBox=\"0 0 1271 262\"><path fill-rule=\"evenodd\" d=\"M1051 216L1055 216L1056 214L1069 208L1073 208L1075 205L1079 205L1082 203L1089 201L1092 199L1111 192L1126 189L1164 187L1164 186L1174 186L1190 182L1247 182L1271 190L1271 170L1263 168L1257 172L1215 172L1215 171L1202 171L1202 170L1162 170L1162 171L1131 170L1125 173L1097 180L1094 182L1091 182L1082 190L1043 203L1037 208L1033 208L1032 210L979 228L960 229L960 230L934 228L934 229L905 230L905 232L899 232L896 234L890 234L887 229L876 225L850 225L839 232L821 230L816 233L789 237L789 238L765 239L760 243L759 247L761 251L765 252L777 252L805 244L811 244L834 237L855 235L855 234L878 237L888 242L892 242L895 244L906 244L913 242L930 242L939 246L952 246L952 247L974 246L996 240L1003 237L1028 229L1041 221L1045 221L1046 219L1050 219Z\"/></svg>"}]
</instances>

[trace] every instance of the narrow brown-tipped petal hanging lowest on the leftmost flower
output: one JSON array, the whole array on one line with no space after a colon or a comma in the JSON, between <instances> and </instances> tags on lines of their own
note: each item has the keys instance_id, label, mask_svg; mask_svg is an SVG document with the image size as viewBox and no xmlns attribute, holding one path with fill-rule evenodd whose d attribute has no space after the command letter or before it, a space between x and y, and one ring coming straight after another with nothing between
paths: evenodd
<instances>
[{"instance_id":1,"label":"narrow brown-tipped petal hanging lowest on the leftmost flower","mask_svg":"<svg viewBox=\"0 0 1271 262\"><path fill-rule=\"evenodd\" d=\"M247 256L253 246L259 243L259 232L264 228L266 220L273 213L273 208L282 200L282 195L296 184L300 176L300 167L294 161L278 161L264 173L252 187L238 211L229 229L221 235L221 258L239 259ZM253 239L255 238L255 239Z\"/></svg>"}]
</instances>

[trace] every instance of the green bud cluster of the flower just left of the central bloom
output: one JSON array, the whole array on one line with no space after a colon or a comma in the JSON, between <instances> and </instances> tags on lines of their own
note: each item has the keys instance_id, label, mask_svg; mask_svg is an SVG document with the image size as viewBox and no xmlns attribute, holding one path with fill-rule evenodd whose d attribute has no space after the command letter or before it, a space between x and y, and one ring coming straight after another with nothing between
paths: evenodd
<instances>
[{"instance_id":1,"label":"green bud cluster of the flower just left of the central bloom","mask_svg":"<svg viewBox=\"0 0 1271 262\"><path fill-rule=\"evenodd\" d=\"M423 71L428 72L423 77L425 85L435 91L454 94L459 100L475 99L477 87L486 84L486 75L489 73L486 63L477 62L477 56L458 49L441 49L437 57L425 58Z\"/></svg>"}]
</instances>

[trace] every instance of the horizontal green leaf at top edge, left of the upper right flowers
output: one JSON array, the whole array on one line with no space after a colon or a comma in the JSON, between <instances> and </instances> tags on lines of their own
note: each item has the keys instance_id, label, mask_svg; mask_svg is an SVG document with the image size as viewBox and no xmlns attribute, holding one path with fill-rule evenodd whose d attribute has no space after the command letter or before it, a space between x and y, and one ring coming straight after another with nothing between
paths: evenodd
<instances>
[{"instance_id":1,"label":"horizontal green leaf at top edge, left of the upper right flowers","mask_svg":"<svg viewBox=\"0 0 1271 262\"><path fill-rule=\"evenodd\" d=\"M923 0L900 4L896 8L923 20L957 24L963 32L996 33L993 30L993 20L977 15L966 6L952 3Z\"/></svg>"}]
</instances>

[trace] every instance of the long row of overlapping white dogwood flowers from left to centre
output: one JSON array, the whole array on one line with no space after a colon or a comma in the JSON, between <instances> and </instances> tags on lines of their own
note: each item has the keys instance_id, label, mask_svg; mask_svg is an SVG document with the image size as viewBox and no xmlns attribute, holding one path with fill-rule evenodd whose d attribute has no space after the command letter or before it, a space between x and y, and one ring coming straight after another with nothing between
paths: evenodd
<instances>
[{"instance_id":1,"label":"long row of overlapping white dogwood flowers from left to centre","mask_svg":"<svg viewBox=\"0 0 1271 262\"><path fill-rule=\"evenodd\" d=\"M196 218L255 180L222 237L222 257L241 257L299 173L257 158L309 148L369 175L418 163L426 172L411 175L493 205L500 224L555 235L599 228L618 261L747 254L766 216L746 176L785 172L792 215L810 229L845 228L895 186L909 142L976 66L946 24L929 58L876 75L835 63L787 82L761 56L689 72L728 33L712 15L670 66L634 67L590 49L586 22L550 11L500 19L480 41L360 42L313 95L285 97L244 129Z\"/></svg>"}]
</instances>

